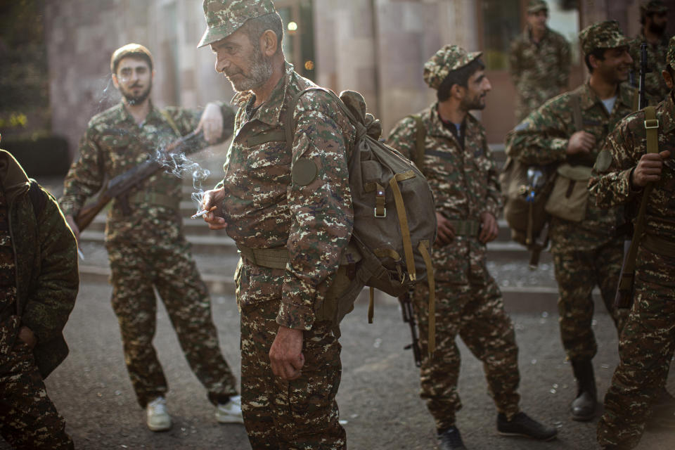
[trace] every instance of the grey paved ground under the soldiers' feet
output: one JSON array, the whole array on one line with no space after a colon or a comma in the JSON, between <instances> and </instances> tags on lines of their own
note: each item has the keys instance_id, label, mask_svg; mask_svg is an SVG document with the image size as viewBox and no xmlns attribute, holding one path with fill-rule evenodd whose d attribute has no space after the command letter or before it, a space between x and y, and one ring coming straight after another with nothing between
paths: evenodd
<instances>
[{"instance_id":1,"label":"grey paved ground under the soldiers' feet","mask_svg":"<svg viewBox=\"0 0 675 450\"><path fill-rule=\"evenodd\" d=\"M78 449L250 449L241 425L218 425L212 406L182 356L167 315L160 307L155 343L171 390L167 396L174 428L153 433L143 425L124 369L119 330L109 304L110 287L83 285L65 329L70 356L49 377L51 398L68 422ZM214 318L226 359L238 375L238 313L231 297L214 297ZM460 392L464 408L458 426L470 449L598 448L595 423L569 420L567 404L574 396L570 365L558 341L553 311L513 314L520 345L522 409L555 424L560 437L539 443L496 435L496 413L487 396L480 363L461 346ZM368 325L366 305L358 304L343 323L342 386L338 401L350 449L435 449L435 431L418 399L417 369L399 310L378 304L375 323ZM595 326L600 350L594 361L599 390L605 392L617 362L617 338L610 319L598 314ZM671 383L671 390L674 387ZM640 449L675 447L675 435L645 435ZM6 449L0 444L0 449Z\"/></svg>"}]
</instances>

